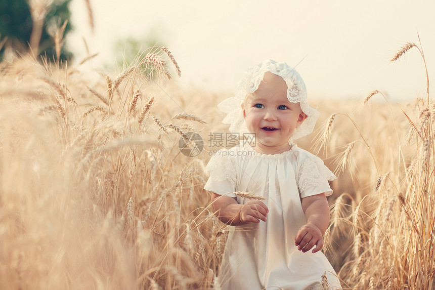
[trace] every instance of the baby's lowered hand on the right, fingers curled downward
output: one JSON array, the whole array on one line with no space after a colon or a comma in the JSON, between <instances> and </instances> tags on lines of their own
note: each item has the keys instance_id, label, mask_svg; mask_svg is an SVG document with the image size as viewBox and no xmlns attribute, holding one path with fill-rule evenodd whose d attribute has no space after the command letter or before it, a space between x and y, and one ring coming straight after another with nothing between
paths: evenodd
<instances>
[{"instance_id":1,"label":"baby's lowered hand on the right, fingers curled downward","mask_svg":"<svg viewBox=\"0 0 435 290\"><path fill-rule=\"evenodd\" d=\"M297 231L294 244L298 246L297 250L303 253L310 251L316 245L312 251L316 253L323 247L322 232L313 224L305 224Z\"/></svg>"}]
</instances>

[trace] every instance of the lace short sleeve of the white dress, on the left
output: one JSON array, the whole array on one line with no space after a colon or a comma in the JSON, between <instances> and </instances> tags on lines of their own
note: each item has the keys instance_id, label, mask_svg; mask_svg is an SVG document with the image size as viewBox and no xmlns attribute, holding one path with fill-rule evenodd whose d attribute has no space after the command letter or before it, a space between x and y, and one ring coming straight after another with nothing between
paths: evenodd
<instances>
[{"instance_id":1,"label":"lace short sleeve of the white dress, on the left","mask_svg":"<svg viewBox=\"0 0 435 290\"><path fill-rule=\"evenodd\" d=\"M229 154L227 149L222 149L211 157L206 166L210 176L204 189L214 193L230 197L236 197L237 173L235 169L234 156Z\"/></svg>"}]
</instances>

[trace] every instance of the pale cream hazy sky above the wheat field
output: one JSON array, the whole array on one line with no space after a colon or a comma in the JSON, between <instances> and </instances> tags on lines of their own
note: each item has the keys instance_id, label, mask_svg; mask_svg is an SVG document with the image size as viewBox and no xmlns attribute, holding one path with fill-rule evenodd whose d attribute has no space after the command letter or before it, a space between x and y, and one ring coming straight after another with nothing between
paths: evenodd
<instances>
[{"instance_id":1,"label":"pale cream hazy sky above the wheat field","mask_svg":"<svg viewBox=\"0 0 435 290\"><path fill-rule=\"evenodd\" d=\"M99 53L89 69L113 65L120 39L156 33L181 68L175 81L182 87L234 92L246 69L273 59L296 68L309 98L364 100L378 90L413 101L426 96L420 52L389 60L407 42L420 46L418 32L435 86L435 1L89 1L94 31L85 1L73 0L67 42L78 60L82 38Z\"/></svg>"}]
</instances>

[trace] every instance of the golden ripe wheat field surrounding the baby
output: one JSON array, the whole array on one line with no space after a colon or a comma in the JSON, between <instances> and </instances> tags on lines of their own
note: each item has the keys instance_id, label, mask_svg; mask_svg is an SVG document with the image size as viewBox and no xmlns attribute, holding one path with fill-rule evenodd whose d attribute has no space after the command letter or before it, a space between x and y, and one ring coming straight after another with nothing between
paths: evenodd
<instances>
[{"instance_id":1,"label":"golden ripe wheat field surrounding the baby","mask_svg":"<svg viewBox=\"0 0 435 290\"><path fill-rule=\"evenodd\" d=\"M415 44L392 61L410 49L424 61ZM94 78L90 58L0 63L0 288L220 289L227 228L203 185L229 95L178 88L165 47ZM428 88L401 104L310 100L321 116L298 145L338 177L323 251L344 288L435 286ZM194 157L188 132L204 140Z\"/></svg>"}]
</instances>

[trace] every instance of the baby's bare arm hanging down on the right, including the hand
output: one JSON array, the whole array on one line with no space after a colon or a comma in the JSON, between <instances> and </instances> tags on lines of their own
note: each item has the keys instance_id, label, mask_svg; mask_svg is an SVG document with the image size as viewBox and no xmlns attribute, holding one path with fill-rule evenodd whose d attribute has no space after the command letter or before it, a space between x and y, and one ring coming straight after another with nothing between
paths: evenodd
<instances>
[{"instance_id":1,"label":"baby's bare arm hanging down on the right, including the hand","mask_svg":"<svg viewBox=\"0 0 435 290\"><path fill-rule=\"evenodd\" d=\"M302 198L302 210L307 223L298 230L294 244L303 253L316 245L312 251L316 253L323 247L323 235L329 226L329 204L325 193Z\"/></svg>"}]
</instances>

